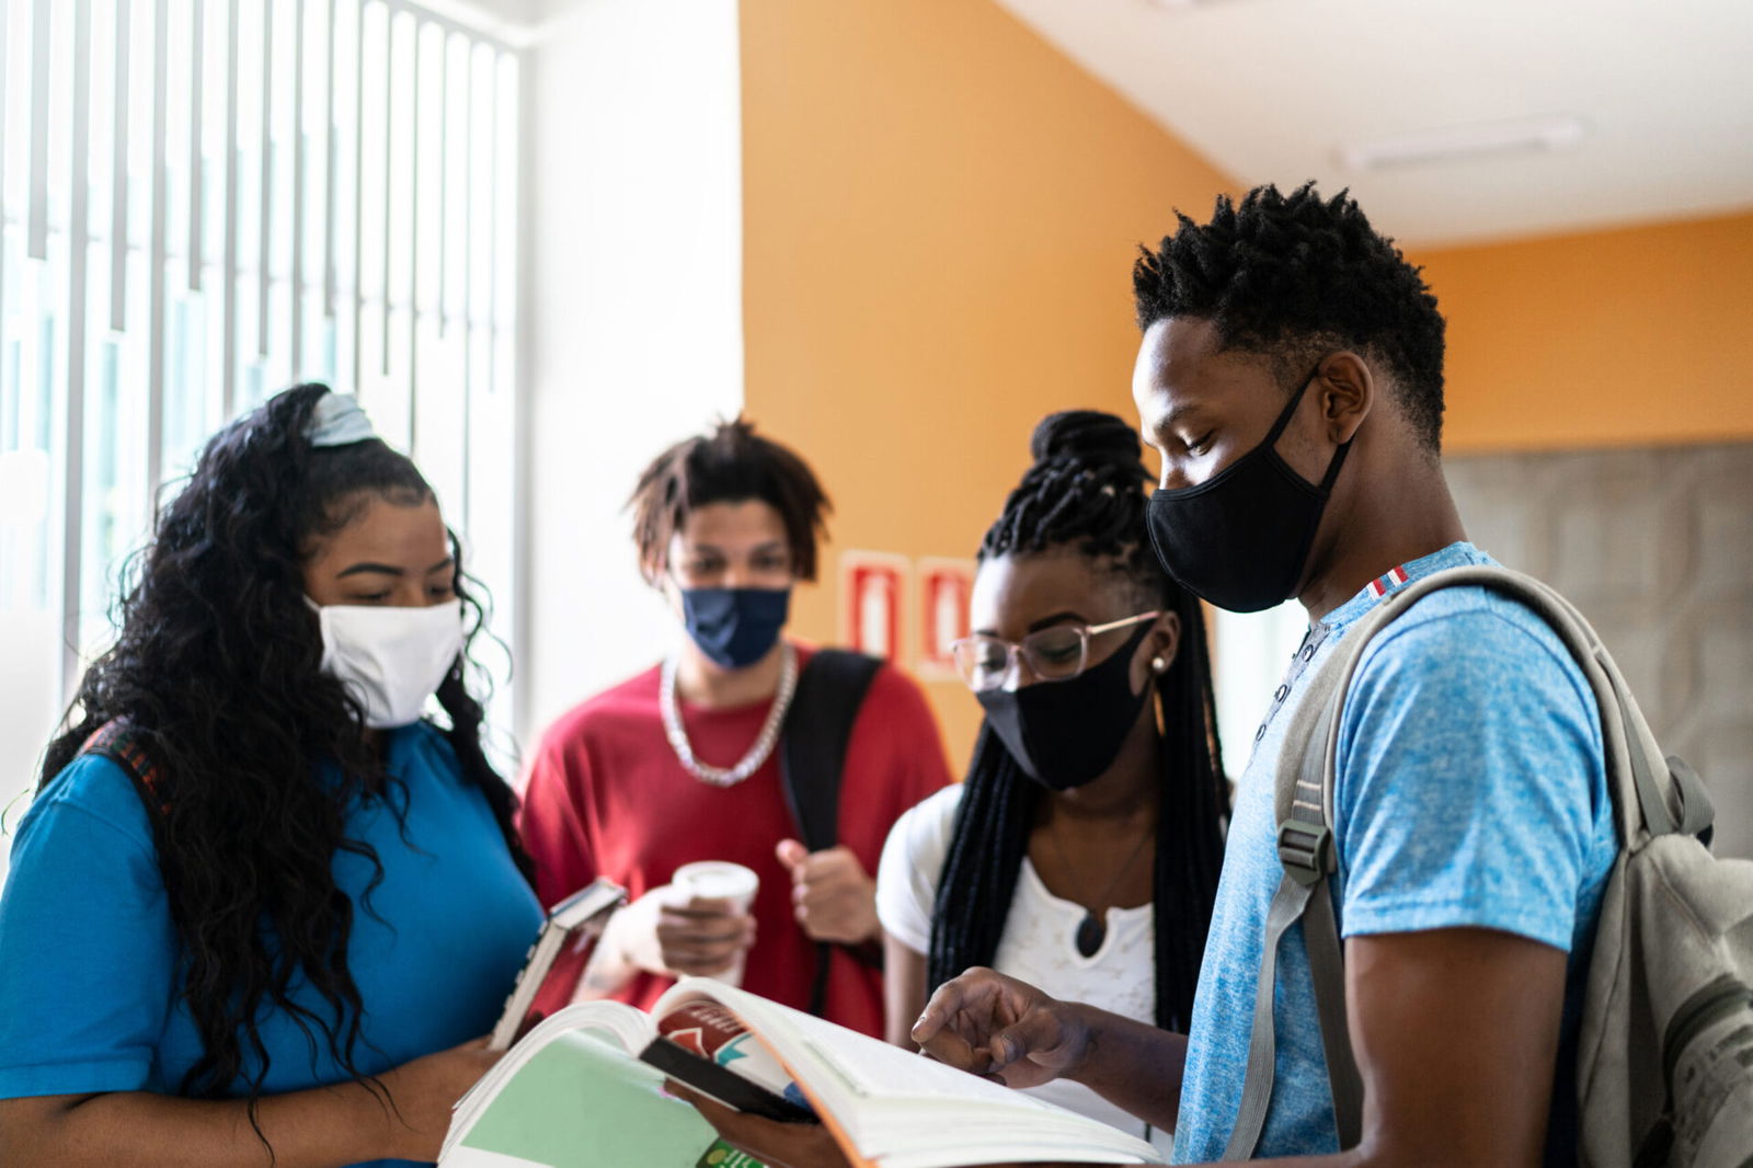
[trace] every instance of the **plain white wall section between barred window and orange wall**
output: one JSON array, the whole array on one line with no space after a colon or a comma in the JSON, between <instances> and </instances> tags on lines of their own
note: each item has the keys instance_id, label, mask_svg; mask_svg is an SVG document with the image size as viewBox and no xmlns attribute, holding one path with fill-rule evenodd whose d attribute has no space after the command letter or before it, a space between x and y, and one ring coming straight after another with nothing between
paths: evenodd
<instances>
[{"instance_id":1,"label":"plain white wall section between barred window and orange wall","mask_svg":"<svg viewBox=\"0 0 1753 1168\"><path fill-rule=\"evenodd\" d=\"M550 4L524 77L528 749L671 644L622 505L657 451L743 402L736 2Z\"/></svg>"}]
</instances>

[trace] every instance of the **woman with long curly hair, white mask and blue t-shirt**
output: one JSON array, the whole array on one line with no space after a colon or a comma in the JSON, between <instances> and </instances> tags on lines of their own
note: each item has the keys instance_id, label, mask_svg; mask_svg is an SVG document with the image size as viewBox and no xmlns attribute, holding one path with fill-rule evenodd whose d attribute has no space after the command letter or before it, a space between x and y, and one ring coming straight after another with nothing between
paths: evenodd
<instances>
[{"instance_id":1,"label":"woman with long curly hair, white mask and blue t-shirt","mask_svg":"<svg viewBox=\"0 0 1753 1168\"><path fill-rule=\"evenodd\" d=\"M540 922L465 579L352 398L207 444L18 828L0 1159L436 1156Z\"/></svg>"}]
</instances>

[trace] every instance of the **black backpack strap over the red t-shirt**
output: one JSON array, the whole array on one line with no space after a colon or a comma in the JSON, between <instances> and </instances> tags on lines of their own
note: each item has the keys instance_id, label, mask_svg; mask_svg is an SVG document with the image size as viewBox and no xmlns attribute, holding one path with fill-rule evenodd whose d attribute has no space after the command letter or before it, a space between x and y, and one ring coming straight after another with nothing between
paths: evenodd
<instances>
[{"instance_id":1,"label":"black backpack strap over the red t-shirt","mask_svg":"<svg viewBox=\"0 0 1753 1168\"><path fill-rule=\"evenodd\" d=\"M840 782L845 777L847 744L882 661L847 649L819 649L798 677L798 689L785 712L778 773L785 787L798 837L812 852L840 838ZM810 1014L820 1017L827 1005L827 973L834 947L815 947L815 984ZM852 949L854 956L871 956ZM880 959L880 958L878 958Z\"/></svg>"}]
</instances>

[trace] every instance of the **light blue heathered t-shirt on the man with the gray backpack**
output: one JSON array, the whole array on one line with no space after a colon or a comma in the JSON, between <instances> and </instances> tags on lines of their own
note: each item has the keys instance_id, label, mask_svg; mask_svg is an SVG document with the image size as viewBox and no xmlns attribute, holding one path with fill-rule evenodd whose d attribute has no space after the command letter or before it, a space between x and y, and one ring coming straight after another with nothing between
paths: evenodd
<instances>
[{"instance_id":1,"label":"light blue heathered t-shirt on the man with the gray backpack","mask_svg":"<svg viewBox=\"0 0 1753 1168\"><path fill-rule=\"evenodd\" d=\"M1476 563L1492 561L1471 544L1451 544L1404 572L1415 580ZM1404 586L1388 577L1378 584ZM1297 680L1313 675L1376 602L1364 589L1309 630L1238 786L1194 1000L1176 1163L1220 1159L1241 1103L1266 912L1283 873L1273 782ZM1488 589L1455 588L1420 600L1376 637L1352 679L1339 730L1339 933L1480 926L1565 951L1546 1161L1574 1164L1576 1028L1618 852L1593 691L1530 610ZM1334 1152L1301 926L1285 935L1278 961L1278 1061L1255 1154Z\"/></svg>"}]
</instances>

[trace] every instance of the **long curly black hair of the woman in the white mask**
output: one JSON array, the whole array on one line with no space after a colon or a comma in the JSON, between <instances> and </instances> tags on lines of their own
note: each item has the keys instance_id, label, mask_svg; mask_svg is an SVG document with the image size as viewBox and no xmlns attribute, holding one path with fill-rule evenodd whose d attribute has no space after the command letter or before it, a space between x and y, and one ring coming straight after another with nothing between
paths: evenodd
<instances>
[{"instance_id":1,"label":"long curly black hair of the woman in the white mask","mask_svg":"<svg viewBox=\"0 0 1753 1168\"><path fill-rule=\"evenodd\" d=\"M347 808L365 796L398 807L394 796L405 796L366 738L358 700L319 670L302 565L314 540L373 498L417 505L433 493L410 459L375 438L312 447L307 426L326 393L286 389L207 442L126 570L121 635L86 670L39 787L93 731L124 719L160 773L158 865L182 947L182 996L203 1042L179 1091L244 1094L252 1124L268 1075L256 1022L265 1007L293 1017L312 1042L321 1035L342 1068L370 1080L358 1070L361 1000L347 968L356 907L331 866L337 852L363 856L377 868L375 887L382 863L347 838ZM461 563L458 582L463 595ZM463 603L472 640L484 612L468 595ZM528 879L514 794L482 752L468 668L465 642L436 694L445 735ZM340 782L319 780L324 763ZM324 1008L293 998L300 980Z\"/></svg>"}]
</instances>

